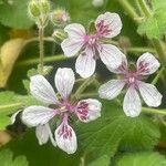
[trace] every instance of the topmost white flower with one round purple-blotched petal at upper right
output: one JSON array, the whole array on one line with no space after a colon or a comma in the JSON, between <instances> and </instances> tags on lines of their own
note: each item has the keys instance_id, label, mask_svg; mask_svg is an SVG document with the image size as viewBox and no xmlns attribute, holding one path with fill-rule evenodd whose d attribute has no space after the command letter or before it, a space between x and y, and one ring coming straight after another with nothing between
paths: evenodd
<instances>
[{"instance_id":1,"label":"topmost white flower with one round purple-blotched petal at upper right","mask_svg":"<svg viewBox=\"0 0 166 166\"><path fill-rule=\"evenodd\" d=\"M76 73L82 77L91 76L96 66L96 59L112 69L122 63L122 52L112 44L104 44L103 39L116 37L122 29L122 22L116 13L105 12L95 20L95 32L87 34L84 27L72 23L64 28L68 39L61 43L66 56L79 54L75 63Z\"/></svg>"}]
</instances>

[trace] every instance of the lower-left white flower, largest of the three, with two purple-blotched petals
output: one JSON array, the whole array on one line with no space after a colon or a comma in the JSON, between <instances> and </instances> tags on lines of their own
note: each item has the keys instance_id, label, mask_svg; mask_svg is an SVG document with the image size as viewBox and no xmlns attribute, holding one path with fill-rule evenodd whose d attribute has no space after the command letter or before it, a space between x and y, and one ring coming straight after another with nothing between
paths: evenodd
<instances>
[{"instance_id":1,"label":"lower-left white flower, largest of the three, with two purple-blotched petals","mask_svg":"<svg viewBox=\"0 0 166 166\"><path fill-rule=\"evenodd\" d=\"M29 106L22 112L22 122L30 127L37 127L35 134L40 144L49 141L53 145L58 145L68 154L73 154L77 148L76 135L73 128L69 125L69 118L76 115L80 121L87 123L101 116L102 104L97 100L87 98L77 103L70 101L75 82L74 73L71 69L58 69L54 83L60 94L55 94L51 84L42 75L31 77L30 90L31 94L48 104L45 106ZM54 136L52 135L49 122L55 122L58 125Z\"/></svg>"}]
</instances>

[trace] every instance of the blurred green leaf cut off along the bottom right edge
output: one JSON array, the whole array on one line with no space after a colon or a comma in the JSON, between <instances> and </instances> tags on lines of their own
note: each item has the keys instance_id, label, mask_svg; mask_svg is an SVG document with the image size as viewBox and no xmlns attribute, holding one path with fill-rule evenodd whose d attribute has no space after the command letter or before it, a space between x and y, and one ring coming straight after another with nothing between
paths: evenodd
<instances>
[{"instance_id":1,"label":"blurred green leaf cut off along the bottom right edge","mask_svg":"<svg viewBox=\"0 0 166 166\"><path fill-rule=\"evenodd\" d=\"M122 156L115 166L165 166L166 159L158 153L136 153Z\"/></svg>"}]
</instances>

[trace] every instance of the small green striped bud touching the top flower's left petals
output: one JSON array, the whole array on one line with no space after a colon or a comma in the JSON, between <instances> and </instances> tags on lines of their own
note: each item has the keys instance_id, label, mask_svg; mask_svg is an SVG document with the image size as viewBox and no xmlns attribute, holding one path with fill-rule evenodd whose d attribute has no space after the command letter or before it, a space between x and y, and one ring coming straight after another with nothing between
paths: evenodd
<instances>
[{"instance_id":1,"label":"small green striped bud touching the top flower's left petals","mask_svg":"<svg viewBox=\"0 0 166 166\"><path fill-rule=\"evenodd\" d=\"M66 38L66 34L63 30L55 30L52 37L56 43L61 43Z\"/></svg>"}]
</instances>

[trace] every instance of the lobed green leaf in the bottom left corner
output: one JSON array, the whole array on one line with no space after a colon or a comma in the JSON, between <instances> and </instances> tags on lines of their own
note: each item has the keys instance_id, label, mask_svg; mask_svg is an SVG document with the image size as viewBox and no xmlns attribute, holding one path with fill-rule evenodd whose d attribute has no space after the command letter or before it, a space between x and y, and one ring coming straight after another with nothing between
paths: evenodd
<instances>
[{"instance_id":1,"label":"lobed green leaf in the bottom left corner","mask_svg":"<svg viewBox=\"0 0 166 166\"><path fill-rule=\"evenodd\" d=\"M17 156L13 159L13 153L10 149L0 151L0 165L1 166L28 166L25 156Z\"/></svg>"}]
</instances>

